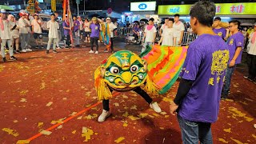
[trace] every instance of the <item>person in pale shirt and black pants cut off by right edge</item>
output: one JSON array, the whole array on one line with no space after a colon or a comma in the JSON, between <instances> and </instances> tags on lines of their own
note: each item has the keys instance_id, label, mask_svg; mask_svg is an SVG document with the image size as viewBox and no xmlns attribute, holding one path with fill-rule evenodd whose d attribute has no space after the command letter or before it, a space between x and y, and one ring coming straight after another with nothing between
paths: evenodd
<instances>
[{"instance_id":1,"label":"person in pale shirt and black pants cut off by right edge","mask_svg":"<svg viewBox=\"0 0 256 144\"><path fill-rule=\"evenodd\" d=\"M256 23L254 24L254 31L249 36L249 44L247 47L247 66L249 74L244 76L244 78L256 84Z\"/></svg>"}]
</instances>

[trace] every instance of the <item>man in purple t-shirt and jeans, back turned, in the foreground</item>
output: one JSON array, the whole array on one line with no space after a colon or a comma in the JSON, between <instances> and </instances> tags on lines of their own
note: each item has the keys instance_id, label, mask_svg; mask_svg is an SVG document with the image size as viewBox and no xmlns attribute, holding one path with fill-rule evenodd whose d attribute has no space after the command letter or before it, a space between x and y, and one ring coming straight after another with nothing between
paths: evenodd
<instances>
[{"instance_id":1,"label":"man in purple t-shirt and jeans, back turned, in the foreground","mask_svg":"<svg viewBox=\"0 0 256 144\"><path fill-rule=\"evenodd\" d=\"M218 119L230 57L226 42L211 28L215 9L213 2L199 1L190 10L190 25L198 38L187 50L178 92L170 104L170 113L178 114L183 143L213 143L210 126Z\"/></svg>"}]
</instances>

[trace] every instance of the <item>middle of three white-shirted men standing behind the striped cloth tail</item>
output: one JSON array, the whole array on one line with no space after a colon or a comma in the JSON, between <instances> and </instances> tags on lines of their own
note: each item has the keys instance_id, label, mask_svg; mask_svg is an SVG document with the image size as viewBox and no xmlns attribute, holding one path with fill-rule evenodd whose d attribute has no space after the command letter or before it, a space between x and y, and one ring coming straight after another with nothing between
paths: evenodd
<instances>
[{"instance_id":1,"label":"middle of three white-shirted men standing behind the striped cloth tail","mask_svg":"<svg viewBox=\"0 0 256 144\"><path fill-rule=\"evenodd\" d=\"M173 28L174 19L170 18L167 22L166 28L162 32L162 37L158 42L158 45L162 42L162 46L176 46L177 34Z\"/></svg>"}]
</instances>

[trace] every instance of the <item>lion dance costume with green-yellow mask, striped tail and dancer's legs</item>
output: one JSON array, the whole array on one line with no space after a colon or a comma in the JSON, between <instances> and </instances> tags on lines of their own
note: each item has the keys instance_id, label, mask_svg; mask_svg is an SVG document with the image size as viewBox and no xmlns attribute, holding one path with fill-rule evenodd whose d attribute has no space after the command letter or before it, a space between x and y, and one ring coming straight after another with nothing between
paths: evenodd
<instances>
[{"instance_id":1,"label":"lion dance costume with green-yellow mask, striped tail and dancer's legs","mask_svg":"<svg viewBox=\"0 0 256 144\"><path fill-rule=\"evenodd\" d=\"M178 78L186 58L187 47L153 46L137 55L121 50L110 55L94 72L94 84L103 111L98 122L110 116L112 91L134 90L160 113L161 108L149 94L164 94Z\"/></svg>"}]
</instances>

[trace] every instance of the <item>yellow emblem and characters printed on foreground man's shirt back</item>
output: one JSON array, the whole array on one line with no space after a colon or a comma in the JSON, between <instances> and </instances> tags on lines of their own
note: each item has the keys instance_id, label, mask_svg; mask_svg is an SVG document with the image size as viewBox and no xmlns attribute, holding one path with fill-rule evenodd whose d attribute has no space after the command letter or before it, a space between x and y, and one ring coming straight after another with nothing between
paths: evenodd
<instances>
[{"instance_id":1,"label":"yellow emblem and characters printed on foreground man's shirt back","mask_svg":"<svg viewBox=\"0 0 256 144\"><path fill-rule=\"evenodd\" d=\"M217 83L221 79L220 76L224 74L227 66L227 62L229 62L230 52L229 50L218 50L213 53L212 64L210 67L211 74L217 74L218 77L214 80L214 78L209 78L208 85L214 86L214 82Z\"/></svg>"}]
</instances>

